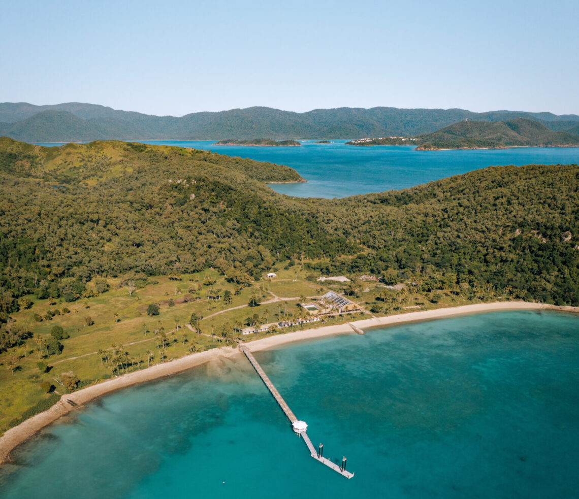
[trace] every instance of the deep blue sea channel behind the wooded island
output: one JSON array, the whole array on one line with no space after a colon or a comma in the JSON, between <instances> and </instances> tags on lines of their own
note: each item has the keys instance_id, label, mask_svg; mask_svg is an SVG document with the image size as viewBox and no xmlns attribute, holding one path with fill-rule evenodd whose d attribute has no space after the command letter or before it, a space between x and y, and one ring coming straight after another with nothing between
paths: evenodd
<instances>
[{"instance_id":1,"label":"deep blue sea channel behind the wooded island","mask_svg":"<svg viewBox=\"0 0 579 499\"><path fill-rule=\"evenodd\" d=\"M488 166L579 163L579 148L514 148L477 151L413 151L413 146L345 145L301 141L301 147L218 146L215 141L140 141L192 147L228 156L285 164L305 184L270 185L297 197L346 197L425 184ZM61 145L61 144L40 144Z\"/></svg>"}]
</instances>

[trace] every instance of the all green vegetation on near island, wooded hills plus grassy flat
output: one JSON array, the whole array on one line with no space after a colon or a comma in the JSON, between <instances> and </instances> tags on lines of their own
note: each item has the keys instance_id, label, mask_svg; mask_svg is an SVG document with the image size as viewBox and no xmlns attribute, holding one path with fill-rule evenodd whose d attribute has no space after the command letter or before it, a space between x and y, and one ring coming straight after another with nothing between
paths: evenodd
<instances>
[{"instance_id":1,"label":"all green vegetation on near island, wooded hills plus grassy flat","mask_svg":"<svg viewBox=\"0 0 579 499\"><path fill-rule=\"evenodd\" d=\"M265 185L299 179L275 164L2 138L0 177L4 429L58 394L299 317L298 303L328 289L375 314L497 298L579 304L577 165L291 199ZM354 279L321 285L321 275Z\"/></svg>"}]
</instances>

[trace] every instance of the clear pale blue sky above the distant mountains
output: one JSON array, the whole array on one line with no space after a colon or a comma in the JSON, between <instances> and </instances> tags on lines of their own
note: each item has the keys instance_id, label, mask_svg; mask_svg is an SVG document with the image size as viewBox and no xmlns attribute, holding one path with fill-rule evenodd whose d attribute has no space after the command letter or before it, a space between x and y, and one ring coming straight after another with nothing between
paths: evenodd
<instances>
[{"instance_id":1,"label":"clear pale blue sky above the distant mountains","mask_svg":"<svg viewBox=\"0 0 579 499\"><path fill-rule=\"evenodd\" d=\"M211 4L211 5L210 5ZM579 1L0 0L0 101L579 114Z\"/></svg>"}]
</instances>

